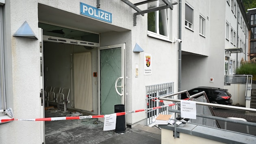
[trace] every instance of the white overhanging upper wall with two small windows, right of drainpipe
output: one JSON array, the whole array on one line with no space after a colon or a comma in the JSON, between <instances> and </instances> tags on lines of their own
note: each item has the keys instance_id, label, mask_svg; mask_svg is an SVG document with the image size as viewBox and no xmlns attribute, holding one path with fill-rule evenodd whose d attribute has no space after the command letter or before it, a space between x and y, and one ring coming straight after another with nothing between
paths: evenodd
<instances>
[{"instance_id":1,"label":"white overhanging upper wall with two small windows, right of drainpipe","mask_svg":"<svg viewBox=\"0 0 256 144\"><path fill-rule=\"evenodd\" d=\"M185 28L185 2L193 7L193 30ZM210 0L182 1L182 51L208 56L210 53ZM199 34L199 17L205 18L205 36Z\"/></svg>"}]
</instances>

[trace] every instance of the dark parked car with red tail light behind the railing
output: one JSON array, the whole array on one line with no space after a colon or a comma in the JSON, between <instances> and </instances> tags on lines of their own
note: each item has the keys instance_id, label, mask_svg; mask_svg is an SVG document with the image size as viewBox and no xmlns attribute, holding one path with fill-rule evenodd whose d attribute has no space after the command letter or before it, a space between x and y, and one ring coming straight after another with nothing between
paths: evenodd
<instances>
[{"instance_id":1,"label":"dark parked car with red tail light behind the railing","mask_svg":"<svg viewBox=\"0 0 256 144\"><path fill-rule=\"evenodd\" d=\"M190 95L194 95L202 91L206 93L210 103L231 105L233 102L231 100L231 94L228 92L228 89L221 89L217 87L196 87L189 90L188 92ZM188 98L187 94L182 93L181 99L183 100L186 98Z\"/></svg>"}]
</instances>

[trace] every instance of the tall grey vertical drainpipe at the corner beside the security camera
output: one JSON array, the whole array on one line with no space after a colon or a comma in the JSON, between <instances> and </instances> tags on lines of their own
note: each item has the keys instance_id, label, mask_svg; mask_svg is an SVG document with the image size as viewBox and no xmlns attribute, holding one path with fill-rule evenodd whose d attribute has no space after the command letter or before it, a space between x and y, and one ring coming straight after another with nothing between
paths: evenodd
<instances>
[{"instance_id":1,"label":"tall grey vertical drainpipe at the corner beside the security camera","mask_svg":"<svg viewBox=\"0 0 256 144\"><path fill-rule=\"evenodd\" d=\"M178 23L178 38L181 39L181 6L182 0L179 0L179 23ZM178 42L178 91L181 91L181 42ZM178 99L181 99L181 94L178 95ZM179 107L180 108L180 107Z\"/></svg>"}]
</instances>

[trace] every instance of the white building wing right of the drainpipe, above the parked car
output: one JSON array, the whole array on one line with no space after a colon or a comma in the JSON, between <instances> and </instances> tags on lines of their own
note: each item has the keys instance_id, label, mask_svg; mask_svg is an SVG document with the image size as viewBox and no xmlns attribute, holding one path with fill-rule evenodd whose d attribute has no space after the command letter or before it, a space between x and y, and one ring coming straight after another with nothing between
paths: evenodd
<instances>
[{"instance_id":1,"label":"white building wing right of the drainpipe, above the parked car","mask_svg":"<svg viewBox=\"0 0 256 144\"><path fill-rule=\"evenodd\" d=\"M243 5L240 0L182 4L181 89L223 88L224 76L235 74L241 59L247 60L249 25Z\"/></svg>"}]
</instances>

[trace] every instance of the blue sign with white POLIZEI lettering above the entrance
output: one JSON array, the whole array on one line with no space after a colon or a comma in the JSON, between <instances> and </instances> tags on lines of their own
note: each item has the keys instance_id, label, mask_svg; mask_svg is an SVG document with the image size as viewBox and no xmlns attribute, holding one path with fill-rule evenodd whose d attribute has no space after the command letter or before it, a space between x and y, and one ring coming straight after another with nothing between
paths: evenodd
<instances>
[{"instance_id":1,"label":"blue sign with white POLIZEI lettering above the entrance","mask_svg":"<svg viewBox=\"0 0 256 144\"><path fill-rule=\"evenodd\" d=\"M112 14L80 2L80 14L112 23Z\"/></svg>"}]
</instances>

